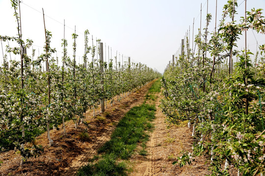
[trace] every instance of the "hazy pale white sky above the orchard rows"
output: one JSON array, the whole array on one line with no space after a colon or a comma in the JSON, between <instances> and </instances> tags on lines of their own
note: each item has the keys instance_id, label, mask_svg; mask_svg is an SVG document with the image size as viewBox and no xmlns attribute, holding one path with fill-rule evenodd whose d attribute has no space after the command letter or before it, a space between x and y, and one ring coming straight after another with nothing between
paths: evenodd
<instances>
[{"instance_id":1,"label":"hazy pale white sky above the orchard rows","mask_svg":"<svg viewBox=\"0 0 265 176\"><path fill-rule=\"evenodd\" d=\"M238 0L238 4L243 1ZM51 45L57 49L58 57L61 57L62 52L61 39L63 39L63 20L65 19L69 54L73 54L71 34L74 33L76 25L79 35L78 62L80 57L81 63L84 52L83 32L88 29L90 44L91 35L94 39L101 39L104 47L106 43L106 49L109 45L109 54L111 47L112 58L117 51L120 61L123 54L124 58L130 56L134 62L141 62L163 72L172 55L178 51L181 39L184 38L189 26L190 35L192 34L193 18L195 18L194 35L197 34L200 26L201 3L203 5L202 27L205 27L206 2L207 0L23 0L21 4L22 33L24 39L33 40L36 56L38 56L38 50L41 54L45 36L43 16L40 12L44 8L47 15L46 28L53 34ZM222 7L226 2L227 0L218 0L217 20L220 19ZM248 0L247 6L248 10L253 7L265 9L265 0ZM239 19L244 15L244 3L237 10L237 19ZM13 13L10 0L0 0L0 35L15 36L17 34ZM214 19L215 0L209 0L209 13L212 13L212 19ZM214 20L209 28L210 31L213 30ZM255 33L255 36L259 44L265 43L265 35ZM252 31L248 31L248 44L254 49L253 52L256 52L256 43ZM6 44L3 43L3 46ZM240 47L240 42L238 46ZM108 52L106 52L107 59ZM1 50L0 61L2 61ZM91 61L90 56L89 61Z\"/></svg>"}]
</instances>

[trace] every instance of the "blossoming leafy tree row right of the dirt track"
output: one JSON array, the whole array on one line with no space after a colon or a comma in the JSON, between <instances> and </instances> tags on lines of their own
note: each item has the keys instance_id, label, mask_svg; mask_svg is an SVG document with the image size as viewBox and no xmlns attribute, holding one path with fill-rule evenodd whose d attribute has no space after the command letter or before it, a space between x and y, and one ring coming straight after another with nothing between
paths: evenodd
<instances>
[{"instance_id":1,"label":"blossoming leafy tree row right of the dirt track","mask_svg":"<svg viewBox=\"0 0 265 176\"><path fill-rule=\"evenodd\" d=\"M210 40L212 15L207 14L205 32L199 31L195 39L197 52L188 49L180 55L161 80L161 108L167 120L193 125L193 152L185 152L173 164L190 164L204 154L211 176L265 173L265 45L260 45L259 62L254 66L246 46L240 52L233 50L248 29L264 34L265 18L262 9L252 9L236 22L237 5L237 0L227 1ZM233 66L235 58L238 62ZM224 66L226 60L229 66Z\"/></svg>"}]
</instances>

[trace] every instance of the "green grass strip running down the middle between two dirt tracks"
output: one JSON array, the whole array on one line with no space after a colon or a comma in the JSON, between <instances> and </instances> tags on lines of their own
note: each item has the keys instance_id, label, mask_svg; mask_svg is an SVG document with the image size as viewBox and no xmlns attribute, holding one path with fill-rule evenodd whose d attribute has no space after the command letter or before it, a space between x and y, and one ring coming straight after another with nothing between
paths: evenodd
<instances>
[{"instance_id":1,"label":"green grass strip running down the middle between two dirt tracks","mask_svg":"<svg viewBox=\"0 0 265 176\"><path fill-rule=\"evenodd\" d=\"M149 89L149 93L160 92L160 82L156 81ZM142 146L148 141L146 131L154 128L150 123L155 117L155 105L143 103L133 107L118 123L111 135L111 139L99 149L100 157L96 156L89 163L79 169L77 176L127 176L128 167L124 161L134 153L137 144ZM144 147L143 147L144 148ZM146 155L146 151L140 151Z\"/></svg>"}]
</instances>

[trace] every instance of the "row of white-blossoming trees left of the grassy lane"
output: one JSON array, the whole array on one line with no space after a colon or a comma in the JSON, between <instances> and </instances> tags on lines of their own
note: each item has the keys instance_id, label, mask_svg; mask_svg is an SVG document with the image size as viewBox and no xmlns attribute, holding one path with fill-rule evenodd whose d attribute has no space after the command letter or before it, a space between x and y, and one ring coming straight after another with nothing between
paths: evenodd
<instances>
[{"instance_id":1,"label":"row of white-blossoming trees left of the grassy lane","mask_svg":"<svg viewBox=\"0 0 265 176\"><path fill-rule=\"evenodd\" d=\"M26 49L33 43L31 40L23 41L21 35L19 0L11 0L14 16L18 22L18 36L0 36L4 42L15 41L17 47L6 48L7 52L20 55L21 61L7 62L0 67L0 151L20 150L24 158L38 155L43 148L34 143L36 135L48 131L50 144L50 129L58 128L60 124L65 131L65 121L74 120L76 128L82 123L84 113L88 109L96 109L101 105L104 111L105 101L111 106L114 97L126 96L135 88L139 88L159 76L159 73L140 63L126 65L113 61L107 64L103 61L103 47L100 40L99 55L95 57L96 46L88 46L89 32L84 32L85 48L83 63L76 63L76 39L78 35L72 34L73 58L67 55L68 41L62 39L63 66L58 66L58 58L53 58L56 51L51 48L52 33L46 30L45 54L32 61ZM45 24L45 19L44 19ZM34 54L34 52L33 52ZM91 54L92 62L87 57ZM33 56L32 56L33 57ZM46 71L41 70L42 63L46 64ZM31 142L32 148L25 148L24 144Z\"/></svg>"}]
</instances>

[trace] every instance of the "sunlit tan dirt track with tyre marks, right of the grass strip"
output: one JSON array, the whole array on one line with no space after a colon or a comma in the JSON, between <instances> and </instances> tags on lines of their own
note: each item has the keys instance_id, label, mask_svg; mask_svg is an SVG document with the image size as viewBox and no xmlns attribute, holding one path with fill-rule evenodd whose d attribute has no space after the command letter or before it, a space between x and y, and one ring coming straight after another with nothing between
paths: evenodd
<instances>
[{"instance_id":1,"label":"sunlit tan dirt track with tyre marks, right of the grass strip","mask_svg":"<svg viewBox=\"0 0 265 176\"><path fill-rule=\"evenodd\" d=\"M132 157L134 168L131 176L205 176L210 174L203 156L196 158L190 166L180 168L178 165L172 165L172 162L177 160L177 156L181 156L181 151L191 151L191 129L187 128L186 123L168 128L165 116L158 107L160 99L159 95L156 102L155 130L150 134L150 140L147 143L148 155L137 154Z\"/></svg>"}]
</instances>

